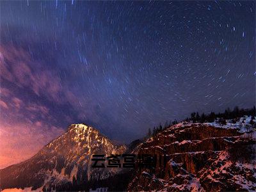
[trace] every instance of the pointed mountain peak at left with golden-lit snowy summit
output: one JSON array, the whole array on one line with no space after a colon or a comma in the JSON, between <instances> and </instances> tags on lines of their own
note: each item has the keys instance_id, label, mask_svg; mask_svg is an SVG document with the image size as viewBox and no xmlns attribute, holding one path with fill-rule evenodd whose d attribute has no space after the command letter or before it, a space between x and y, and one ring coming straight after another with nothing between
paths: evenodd
<instances>
[{"instance_id":1,"label":"pointed mountain peak at left with golden-lit snowy summit","mask_svg":"<svg viewBox=\"0 0 256 192\"><path fill-rule=\"evenodd\" d=\"M92 154L123 154L125 150L124 145L114 145L97 129L73 124L31 159L0 170L1 189L88 190L93 186L90 184L118 172L118 169L90 168Z\"/></svg>"}]
</instances>

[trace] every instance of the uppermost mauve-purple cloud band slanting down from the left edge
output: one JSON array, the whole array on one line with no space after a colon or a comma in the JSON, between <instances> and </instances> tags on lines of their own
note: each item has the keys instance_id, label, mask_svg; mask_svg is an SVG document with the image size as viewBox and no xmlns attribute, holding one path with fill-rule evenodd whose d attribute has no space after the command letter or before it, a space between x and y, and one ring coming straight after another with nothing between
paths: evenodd
<instances>
[{"instance_id":1,"label":"uppermost mauve-purple cloud band slanting down from the left edge","mask_svg":"<svg viewBox=\"0 0 256 192\"><path fill-rule=\"evenodd\" d=\"M61 84L58 73L42 66L42 61L34 61L24 49L0 46L1 79L15 83L19 87L29 88L36 95L44 95L57 103L71 103L76 100L72 92L63 90L64 85Z\"/></svg>"}]
</instances>

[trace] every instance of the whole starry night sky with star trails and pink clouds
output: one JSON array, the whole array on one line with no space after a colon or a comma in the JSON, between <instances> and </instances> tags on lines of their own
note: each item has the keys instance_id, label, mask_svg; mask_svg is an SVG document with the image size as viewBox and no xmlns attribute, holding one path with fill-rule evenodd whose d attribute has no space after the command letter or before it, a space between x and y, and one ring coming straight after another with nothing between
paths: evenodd
<instances>
[{"instance_id":1,"label":"whole starry night sky with star trails and pink clouds","mask_svg":"<svg viewBox=\"0 0 256 192\"><path fill-rule=\"evenodd\" d=\"M1 1L0 168L69 124L128 143L255 104L253 1Z\"/></svg>"}]
</instances>

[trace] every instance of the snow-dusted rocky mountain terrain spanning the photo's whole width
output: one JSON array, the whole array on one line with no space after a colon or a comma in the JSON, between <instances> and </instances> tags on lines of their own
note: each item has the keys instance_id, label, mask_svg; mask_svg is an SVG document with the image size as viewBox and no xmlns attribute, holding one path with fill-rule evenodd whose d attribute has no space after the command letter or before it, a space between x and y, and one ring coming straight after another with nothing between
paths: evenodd
<instances>
[{"instance_id":1,"label":"snow-dusted rocky mountain terrain spanning the photo's whole width","mask_svg":"<svg viewBox=\"0 0 256 192\"><path fill-rule=\"evenodd\" d=\"M255 191L256 132L182 122L129 147L73 124L27 161L0 170L0 188L39 191ZM157 155L151 168L91 168L92 154ZM162 157L166 155L166 158ZM159 157L161 156L161 160ZM138 157L138 156L137 156Z\"/></svg>"}]
</instances>

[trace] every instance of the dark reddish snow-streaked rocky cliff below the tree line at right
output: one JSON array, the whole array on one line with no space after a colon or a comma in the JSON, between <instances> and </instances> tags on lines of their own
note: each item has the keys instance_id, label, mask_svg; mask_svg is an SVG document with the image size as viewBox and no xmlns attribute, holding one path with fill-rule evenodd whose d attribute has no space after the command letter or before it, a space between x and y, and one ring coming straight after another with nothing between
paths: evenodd
<instances>
[{"instance_id":1,"label":"dark reddish snow-streaked rocky cliff below the tree line at right","mask_svg":"<svg viewBox=\"0 0 256 192\"><path fill-rule=\"evenodd\" d=\"M157 154L136 170L129 191L255 191L256 134L207 124L173 125L149 138L139 154ZM166 161L159 155L166 154Z\"/></svg>"}]
</instances>

